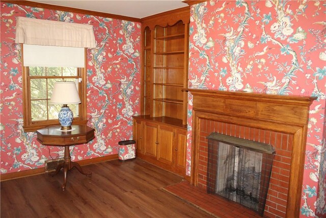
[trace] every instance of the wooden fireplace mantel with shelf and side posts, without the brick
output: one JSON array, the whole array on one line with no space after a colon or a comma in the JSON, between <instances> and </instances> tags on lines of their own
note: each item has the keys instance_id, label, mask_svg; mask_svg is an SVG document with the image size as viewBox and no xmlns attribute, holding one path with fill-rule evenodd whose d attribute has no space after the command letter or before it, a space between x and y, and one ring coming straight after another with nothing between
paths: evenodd
<instances>
[{"instance_id":1,"label":"wooden fireplace mantel with shelf and side posts, without the brick","mask_svg":"<svg viewBox=\"0 0 326 218\"><path fill-rule=\"evenodd\" d=\"M191 183L198 184L200 119L293 135L286 217L300 213L309 106L315 97L184 89L193 94Z\"/></svg>"}]
</instances>

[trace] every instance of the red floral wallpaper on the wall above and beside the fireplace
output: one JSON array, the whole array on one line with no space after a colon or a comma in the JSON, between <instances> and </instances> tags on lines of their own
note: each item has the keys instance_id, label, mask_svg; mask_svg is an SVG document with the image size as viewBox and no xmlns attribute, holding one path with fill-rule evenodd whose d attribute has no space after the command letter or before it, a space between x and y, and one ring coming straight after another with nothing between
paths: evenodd
<instances>
[{"instance_id":1,"label":"red floral wallpaper on the wall above and beside the fireplace","mask_svg":"<svg viewBox=\"0 0 326 218\"><path fill-rule=\"evenodd\" d=\"M309 112L302 217L326 215L325 7L326 1L306 0L208 1L191 6L189 88L317 97ZM190 175L191 94L188 100Z\"/></svg>"}]
</instances>

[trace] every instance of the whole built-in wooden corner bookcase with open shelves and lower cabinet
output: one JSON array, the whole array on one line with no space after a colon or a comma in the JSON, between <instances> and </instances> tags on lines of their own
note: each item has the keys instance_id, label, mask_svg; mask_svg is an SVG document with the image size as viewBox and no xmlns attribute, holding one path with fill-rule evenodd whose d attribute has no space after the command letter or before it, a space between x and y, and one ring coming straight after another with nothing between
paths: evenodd
<instances>
[{"instance_id":1,"label":"whole built-in wooden corner bookcase with open shelves and lower cabinet","mask_svg":"<svg viewBox=\"0 0 326 218\"><path fill-rule=\"evenodd\" d=\"M189 7L142 19L137 156L185 177Z\"/></svg>"}]
</instances>

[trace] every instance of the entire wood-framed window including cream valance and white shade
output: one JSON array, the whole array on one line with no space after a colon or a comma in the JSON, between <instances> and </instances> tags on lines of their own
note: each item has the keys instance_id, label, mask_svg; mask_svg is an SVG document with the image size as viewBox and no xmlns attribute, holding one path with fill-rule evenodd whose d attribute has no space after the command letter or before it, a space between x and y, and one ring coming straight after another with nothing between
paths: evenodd
<instances>
[{"instance_id":1,"label":"entire wood-framed window including cream valance and white shade","mask_svg":"<svg viewBox=\"0 0 326 218\"><path fill-rule=\"evenodd\" d=\"M49 104L56 81L75 81L82 103L69 105L72 124L86 124L85 54L96 47L93 26L17 17L15 42L22 43L24 131L59 125L60 107Z\"/></svg>"}]
</instances>

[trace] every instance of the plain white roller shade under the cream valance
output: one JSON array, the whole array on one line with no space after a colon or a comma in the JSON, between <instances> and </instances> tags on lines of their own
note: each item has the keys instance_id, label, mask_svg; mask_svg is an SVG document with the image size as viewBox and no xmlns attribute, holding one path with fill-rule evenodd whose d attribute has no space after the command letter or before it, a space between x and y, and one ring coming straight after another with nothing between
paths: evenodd
<instances>
[{"instance_id":1,"label":"plain white roller shade under the cream valance","mask_svg":"<svg viewBox=\"0 0 326 218\"><path fill-rule=\"evenodd\" d=\"M85 67L83 47L23 44L23 65L44 67Z\"/></svg>"}]
</instances>

